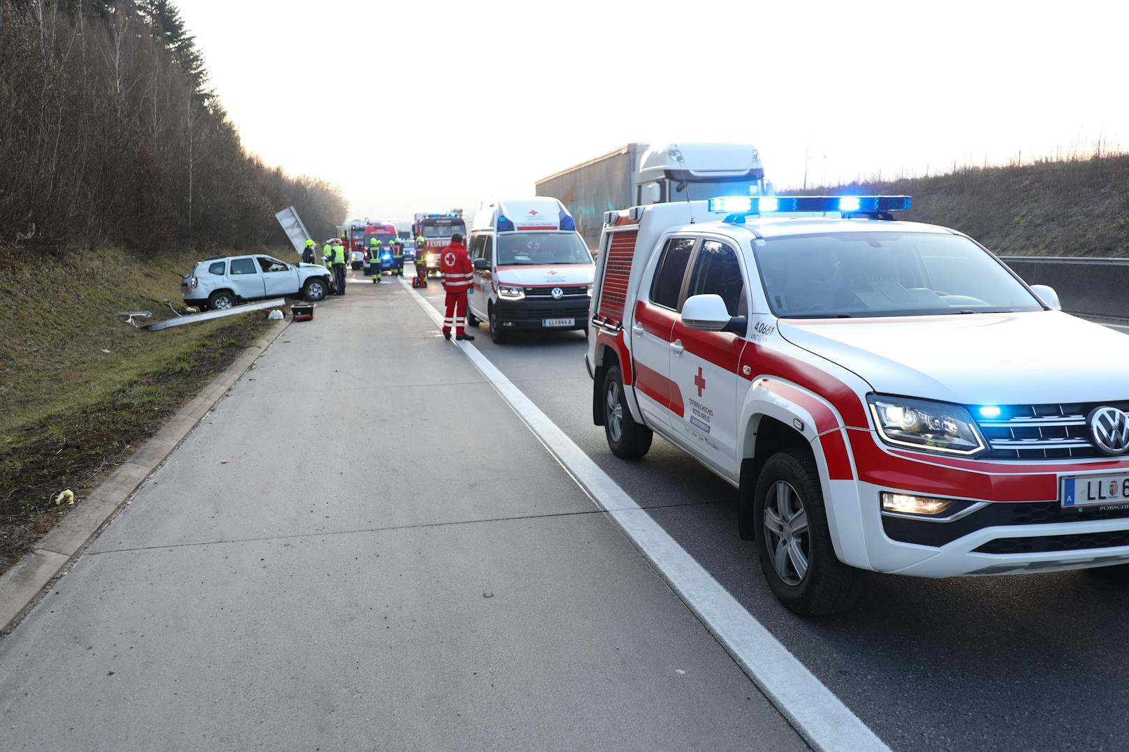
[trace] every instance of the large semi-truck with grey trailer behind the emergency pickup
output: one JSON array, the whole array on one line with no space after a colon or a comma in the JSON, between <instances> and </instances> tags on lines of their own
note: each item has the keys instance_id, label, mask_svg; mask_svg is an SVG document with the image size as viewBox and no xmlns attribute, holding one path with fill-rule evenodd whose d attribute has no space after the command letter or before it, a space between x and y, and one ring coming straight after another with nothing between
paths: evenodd
<instances>
[{"instance_id":1,"label":"large semi-truck with grey trailer behind the emergency pickup","mask_svg":"<svg viewBox=\"0 0 1129 752\"><path fill-rule=\"evenodd\" d=\"M593 251L604 212L650 203L770 193L752 143L629 143L536 183L560 199Z\"/></svg>"}]
</instances>

